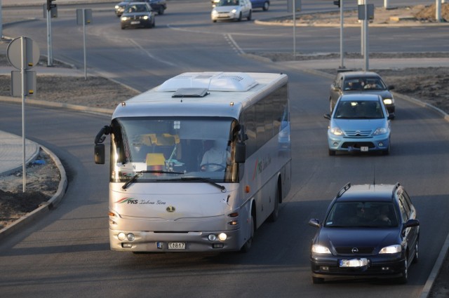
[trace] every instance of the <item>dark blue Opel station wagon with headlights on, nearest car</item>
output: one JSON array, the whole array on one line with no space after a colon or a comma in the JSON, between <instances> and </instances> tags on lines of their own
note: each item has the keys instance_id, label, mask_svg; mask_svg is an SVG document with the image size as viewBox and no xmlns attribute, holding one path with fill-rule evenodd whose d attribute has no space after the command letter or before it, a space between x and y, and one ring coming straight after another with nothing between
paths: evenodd
<instances>
[{"instance_id":1,"label":"dark blue Opel station wagon with headlights on, nearest car","mask_svg":"<svg viewBox=\"0 0 449 298\"><path fill-rule=\"evenodd\" d=\"M310 251L313 283L326 278L397 278L407 283L418 261L420 222L401 184L346 184L316 226Z\"/></svg>"}]
</instances>

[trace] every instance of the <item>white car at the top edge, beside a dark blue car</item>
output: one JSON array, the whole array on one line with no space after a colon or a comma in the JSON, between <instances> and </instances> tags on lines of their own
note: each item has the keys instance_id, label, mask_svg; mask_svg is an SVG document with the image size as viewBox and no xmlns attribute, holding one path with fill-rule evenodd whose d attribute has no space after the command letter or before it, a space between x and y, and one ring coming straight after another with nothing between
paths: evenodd
<instances>
[{"instance_id":1,"label":"white car at the top edge, beside a dark blue car","mask_svg":"<svg viewBox=\"0 0 449 298\"><path fill-rule=\"evenodd\" d=\"M238 20L246 18L251 20L253 6L250 0L220 0L210 13L213 22L217 20Z\"/></svg>"}]
</instances>

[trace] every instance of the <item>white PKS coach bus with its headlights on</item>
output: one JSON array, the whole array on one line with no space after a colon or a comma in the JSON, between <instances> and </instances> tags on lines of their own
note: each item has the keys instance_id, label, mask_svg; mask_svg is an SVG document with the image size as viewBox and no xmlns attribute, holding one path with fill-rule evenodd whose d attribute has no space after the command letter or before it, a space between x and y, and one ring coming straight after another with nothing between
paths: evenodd
<instances>
[{"instance_id":1,"label":"white PKS coach bus with its headlights on","mask_svg":"<svg viewBox=\"0 0 449 298\"><path fill-rule=\"evenodd\" d=\"M109 241L128 252L248 251L290 190L286 74L188 72L119 104Z\"/></svg>"}]
</instances>

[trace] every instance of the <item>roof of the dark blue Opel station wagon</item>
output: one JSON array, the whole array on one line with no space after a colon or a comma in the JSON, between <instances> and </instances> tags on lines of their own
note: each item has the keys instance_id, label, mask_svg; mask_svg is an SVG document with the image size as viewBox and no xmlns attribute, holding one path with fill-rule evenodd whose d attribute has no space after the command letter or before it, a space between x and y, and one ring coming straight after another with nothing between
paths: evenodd
<instances>
[{"instance_id":1,"label":"roof of the dark blue Opel station wagon","mask_svg":"<svg viewBox=\"0 0 449 298\"><path fill-rule=\"evenodd\" d=\"M393 191L399 184L346 184L335 197L339 202L351 201L393 201Z\"/></svg>"}]
</instances>

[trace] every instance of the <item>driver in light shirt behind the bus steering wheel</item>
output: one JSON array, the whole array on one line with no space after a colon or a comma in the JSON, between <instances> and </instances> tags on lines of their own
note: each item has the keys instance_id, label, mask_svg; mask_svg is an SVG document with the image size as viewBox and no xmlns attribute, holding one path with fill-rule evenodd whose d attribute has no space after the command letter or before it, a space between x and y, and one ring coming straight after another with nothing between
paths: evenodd
<instances>
[{"instance_id":1,"label":"driver in light shirt behind the bus steering wheel","mask_svg":"<svg viewBox=\"0 0 449 298\"><path fill-rule=\"evenodd\" d=\"M227 142L217 140L206 140L204 147L207 151L201 159L201 171L203 172L224 172L229 163L231 154L227 151Z\"/></svg>"}]
</instances>

